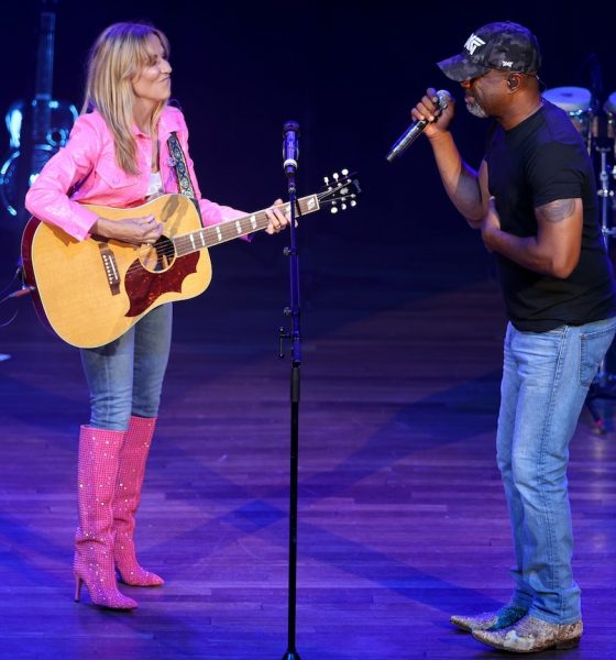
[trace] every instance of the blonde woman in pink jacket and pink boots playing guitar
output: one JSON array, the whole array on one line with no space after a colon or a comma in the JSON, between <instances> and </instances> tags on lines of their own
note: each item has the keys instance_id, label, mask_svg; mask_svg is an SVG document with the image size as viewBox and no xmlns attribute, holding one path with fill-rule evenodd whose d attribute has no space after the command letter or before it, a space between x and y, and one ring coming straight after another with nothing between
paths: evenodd
<instances>
[{"instance_id":1,"label":"blonde woman in pink jacket and pink boots playing guitar","mask_svg":"<svg viewBox=\"0 0 616 660\"><path fill-rule=\"evenodd\" d=\"M163 193L178 193L167 139L174 132L205 224L243 216L200 195L188 156L182 112L167 105L169 44L156 28L117 23L102 32L89 57L85 103L70 139L45 166L26 196L30 212L77 240L90 234L152 243L162 224L154 217L107 220L84 204L130 207ZM280 200L276 200L278 206ZM288 218L268 211L274 233ZM91 601L113 609L136 602L118 588L158 586L134 547L135 514L152 442L172 337L172 305L156 307L125 334L97 349L81 349L91 416L79 433L75 598L85 583Z\"/></svg>"}]
</instances>

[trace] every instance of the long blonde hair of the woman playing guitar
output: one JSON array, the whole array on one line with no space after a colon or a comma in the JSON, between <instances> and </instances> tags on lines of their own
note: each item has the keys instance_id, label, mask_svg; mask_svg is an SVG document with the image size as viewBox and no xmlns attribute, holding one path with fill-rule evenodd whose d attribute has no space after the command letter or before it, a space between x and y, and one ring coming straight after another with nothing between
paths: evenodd
<instances>
[{"instance_id":1,"label":"long blonde hair of the woman playing guitar","mask_svg":"<svg viewBox=\"0 0 616 660\"><path fill-rule=\"evenodd\" d=\"M136 142L131 131L134 123L133 108L135 76L152 63L150 35L161 41L165 56L169 53L167 37L147 23L114 23L95 42L88 58L86 95L81 112L98 110L116 144L118 165L128 174L139 174ZM156 125L166 101L162 101L152 114L151 128Z\"/></svg>"}]
</instances>

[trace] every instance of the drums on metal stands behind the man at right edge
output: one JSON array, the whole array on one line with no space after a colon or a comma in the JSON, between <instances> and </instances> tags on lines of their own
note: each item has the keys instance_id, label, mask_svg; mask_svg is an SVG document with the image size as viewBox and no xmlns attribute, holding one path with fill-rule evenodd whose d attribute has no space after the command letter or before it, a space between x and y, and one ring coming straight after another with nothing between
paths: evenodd
<instances>
[{"instance_id":1,"label":"drums on metal stands behind the man at right edge","mask_svg":"<svg viewBox=\"0 0 616 660\"><path fill-rule=\"evenodd\" d=\"M616 240L616 91L603 106L593 102L593 95L583 87L554 87L543 91L543 98L564 110L584 140L598 176L597 196L601 200L601 230L605 245ZM615 342L616 344L616 342ZM612 344L594 380L586 405L597 432L605 432L605 424L596 407L597 399L616 400L616 345Z\"/></svg>"}]
</instances>

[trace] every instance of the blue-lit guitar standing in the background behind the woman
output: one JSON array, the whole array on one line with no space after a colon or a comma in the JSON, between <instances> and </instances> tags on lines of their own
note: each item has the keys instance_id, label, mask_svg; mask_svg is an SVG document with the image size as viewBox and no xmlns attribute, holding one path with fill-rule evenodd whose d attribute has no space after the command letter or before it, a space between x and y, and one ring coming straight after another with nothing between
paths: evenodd
<instances>
[{"instance_id":1,"label":"blue-lit guitar standing in the background behind the woman","mask_svg":"<svg viewBox=\"0 0 616 660\"><path fill-rule=\"evenodd\" d=\"M21 233L29 215L25 194L45 163L68 140L77 108L52 96L57 0L42 0L34 98L7 112L10 153L0 167L0 200Z\"/></svg>"}]
</instances>

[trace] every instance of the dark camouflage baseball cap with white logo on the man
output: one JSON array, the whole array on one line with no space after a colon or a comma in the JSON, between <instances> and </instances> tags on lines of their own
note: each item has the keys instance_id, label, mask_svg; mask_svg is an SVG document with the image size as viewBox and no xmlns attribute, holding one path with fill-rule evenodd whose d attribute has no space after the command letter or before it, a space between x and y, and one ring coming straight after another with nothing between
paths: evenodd
<instances>
[{"instance_id":1,"label":"dark camouflage baseball cap with white logo on the man","mask_svg":"<svg viewBox=\"0 0 616 660\"><path fill-rule=\"evenodd\" d=\"M462 82L482 76L491 68L536 73L541 66L541 53L530 30L504 21L475 30L462 53L437 63L437 66L448 78Z\"/></svg>"}]
</instances>

